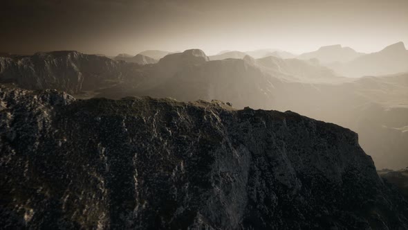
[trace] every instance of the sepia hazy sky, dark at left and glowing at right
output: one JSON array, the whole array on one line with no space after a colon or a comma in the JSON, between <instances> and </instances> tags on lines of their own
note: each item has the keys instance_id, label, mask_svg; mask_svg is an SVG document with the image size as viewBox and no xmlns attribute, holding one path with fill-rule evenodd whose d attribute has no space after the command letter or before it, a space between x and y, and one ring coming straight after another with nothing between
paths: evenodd
<instances>
[{"instance_id":1,"label":"sepia hazy sky, dark at left and glowing at right","mask_svg":"<svg viewBox=\"0 0 408 230\"><path fill-rule=\"evenodd\" d=\"M1 0L0 51L136 54L408 44L408 0Z\"/></svg>"}]
</instances>

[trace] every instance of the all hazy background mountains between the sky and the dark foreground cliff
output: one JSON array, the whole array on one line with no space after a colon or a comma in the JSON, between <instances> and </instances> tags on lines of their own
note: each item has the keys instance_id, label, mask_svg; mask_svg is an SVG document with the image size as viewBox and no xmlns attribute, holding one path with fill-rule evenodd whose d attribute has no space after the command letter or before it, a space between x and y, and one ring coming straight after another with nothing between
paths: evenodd
<instances>
[{"instance_id":1,"label":"all hazy background mountains between the sky and the dark foreground cliff","mask_svg":"<svg viewBox=\"0 0 408 230\"><path fill-rule=\"evenodd\" d=\"M340 52L349 50L333 47ZM237 108L293 110L358 132L360 144L373 156L378 168L405 168L407 73L344 78L338 69L322 66L328 62L319 53L327 53L326 49L313 52L314 56L308 53L312 59L307 60L275 56L256 59L245 53L239 53L239 58L212 60L214 56L207 57L195 49L166 55L156 64L116 62L75 51L37 53L1 57L0 81L26 89L59 89L78 98L217 99ZM390 60L405 58L406 53L403 44L398 43L378 53L354 53L358 55L355 60L342 64L366 62L365 71L387 69L382 73L397 73L407 62L391 65ZM333 61L334 57L327 56L326 60ZM345 60L342 55L338 57ZM364 71L363 66L359 71Z\"/></svg>"}]
</instances>

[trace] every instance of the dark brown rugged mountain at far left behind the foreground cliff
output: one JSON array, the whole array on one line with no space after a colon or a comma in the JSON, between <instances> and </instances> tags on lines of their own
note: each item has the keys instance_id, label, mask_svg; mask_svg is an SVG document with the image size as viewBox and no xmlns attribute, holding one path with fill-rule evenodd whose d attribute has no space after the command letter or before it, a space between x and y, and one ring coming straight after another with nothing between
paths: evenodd
<instances>
[{"instance_id":1,"label":"dark brown rugged mountain at far left behind the foreground cliff","mask_svg":"<svg viewBox=\"0 0 408 230\"><path fill-rule=\"evenodd\" d=\"M108 57L76 51L0 57L0 82L15 82L26 89L59 89L70 93L98 89L118 82L131 65Z\"/></svg>"}]
</instances>

